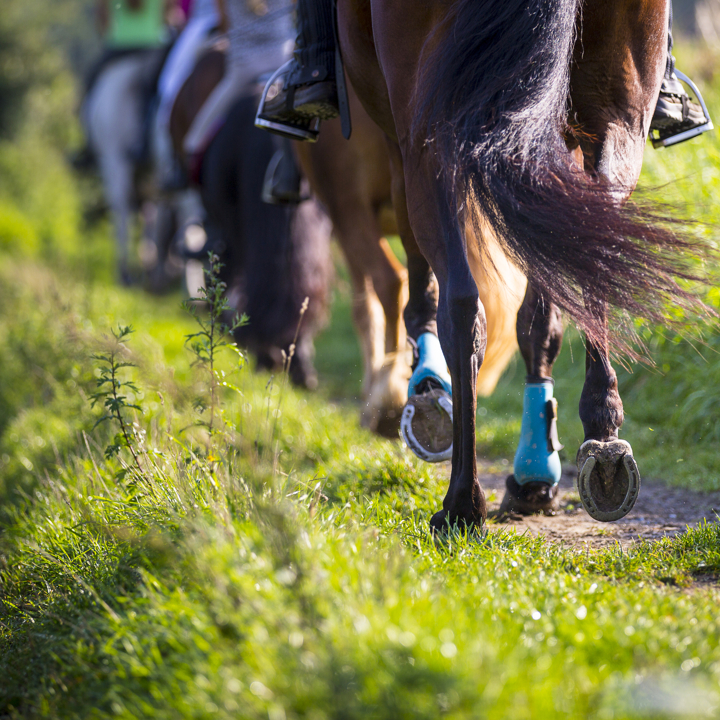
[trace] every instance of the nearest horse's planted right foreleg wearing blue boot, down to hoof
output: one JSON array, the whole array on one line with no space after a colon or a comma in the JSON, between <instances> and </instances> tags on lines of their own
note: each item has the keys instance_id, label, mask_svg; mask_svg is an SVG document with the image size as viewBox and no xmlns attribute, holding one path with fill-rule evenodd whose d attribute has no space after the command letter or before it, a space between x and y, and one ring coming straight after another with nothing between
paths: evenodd
<instances>
[{"instance_id":1,"label":"nearest horse's planted right foreleg wearing blue boot, down to hoof","mask_svg":"<svg viewBox=\"0 0 720 720\"><path fill-rule=\"evenodd\" d=\"M560 353L563 325L560 308L528 284L518 311L517 338L527 377L520 442L514 472L500 514L552 514L558 506L561 466L557 437L557 403L553 398L552 368Z\"/></svg>"}]
</instances>

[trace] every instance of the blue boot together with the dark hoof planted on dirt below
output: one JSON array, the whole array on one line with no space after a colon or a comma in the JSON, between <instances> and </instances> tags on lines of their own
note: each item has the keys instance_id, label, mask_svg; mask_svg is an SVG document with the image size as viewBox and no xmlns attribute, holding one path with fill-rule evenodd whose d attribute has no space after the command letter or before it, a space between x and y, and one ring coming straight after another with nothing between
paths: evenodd
<instances>
[{"instance_id":1,"label":"blue boot together with the dark hoof planted on dirt below","mask_svg":"<svg viewBox=\"0 0 720 720\"><path fill-rule=\"evenodd\" d=\"M515 453L514 474L506 481L507 492L500 514L518 512L553 515L558 508L558 483L562 474L558 451L557 401L552 379L526 381L520 443Z\"/></svg>"}]
</instances>

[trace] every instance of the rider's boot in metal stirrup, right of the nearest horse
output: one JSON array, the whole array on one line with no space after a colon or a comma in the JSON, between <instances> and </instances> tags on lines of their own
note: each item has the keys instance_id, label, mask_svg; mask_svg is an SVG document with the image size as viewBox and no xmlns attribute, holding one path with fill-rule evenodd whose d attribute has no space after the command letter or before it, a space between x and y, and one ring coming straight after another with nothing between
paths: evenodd
<instances>
[{"instance_id":1,"label":"rider's boot in metal stirrup, right of the nearest horse","mask_svg":"<svg viewBox=\"0 0 720 720\"><path fill-rule=\"evenodd\" d=\"M675 58L672 54L672 5L670 6L669 21L665 77L660 86L660 96L650 122L650 139L654 147L676 145L713 129L700 91L689 78L675 70ZM690 99L680 80L689 85L698 102Z\"/></svg>"}]
</instances>

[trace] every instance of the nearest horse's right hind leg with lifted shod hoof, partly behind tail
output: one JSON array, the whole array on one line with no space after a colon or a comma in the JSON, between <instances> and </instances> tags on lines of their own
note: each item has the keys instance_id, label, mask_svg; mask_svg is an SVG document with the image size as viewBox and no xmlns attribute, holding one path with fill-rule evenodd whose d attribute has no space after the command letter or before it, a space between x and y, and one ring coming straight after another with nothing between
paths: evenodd
<instances>
[{"instance_id":1,"label":"nearest horse's right hind leg with lifted shod hoof, partly behind tail","mask_svg":"<svg viewBox=\"0 0 720 720\"><path fill-rule=\"evenodd\" d=\"M573 124L582 133L586 169L624 203L640 176L647 133L667 61L669 3L583 3L583 21L571 71ZM601 89L601 92L598 92ZM607 326L605 298L587 288ZM618 439L623 406L608 342L588 343L580 398L585 441L577 455L578 490L596 520L630 512L640 475L630 445Z\"/></svg>"}]
</instances>

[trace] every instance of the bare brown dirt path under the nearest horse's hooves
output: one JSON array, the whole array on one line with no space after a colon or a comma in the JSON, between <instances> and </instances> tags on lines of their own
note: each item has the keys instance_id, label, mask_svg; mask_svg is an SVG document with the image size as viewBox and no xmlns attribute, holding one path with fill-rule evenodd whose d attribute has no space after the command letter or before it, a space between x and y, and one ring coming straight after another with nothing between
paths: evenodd
<instances>
[{"instance_id":1,"label":"bare brown dirt path under the nearest horse's hooves","mask_svg":"<svg viewBox=\"0 0 720 720\"><path fill-rule=\"evenodd\" d=\"M479 469L480 482L488 496L492 515L492 511L500 507L505 494L506 474L483 473L482 468ZM613 523L597 522L580 504L576 475L573 467L563 468L560 511L554 517L515 515L495 527L514 527L517 532L528 530L534 535L547 535L552 540L576 547L605 547L619 542L627 548L637 540L672 537L683 532L686 526L694 527L703 519L718 521L720 492L699 493L643 479L640 497L626 517Z\"/></svg>"}]
</instances>

